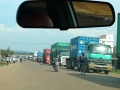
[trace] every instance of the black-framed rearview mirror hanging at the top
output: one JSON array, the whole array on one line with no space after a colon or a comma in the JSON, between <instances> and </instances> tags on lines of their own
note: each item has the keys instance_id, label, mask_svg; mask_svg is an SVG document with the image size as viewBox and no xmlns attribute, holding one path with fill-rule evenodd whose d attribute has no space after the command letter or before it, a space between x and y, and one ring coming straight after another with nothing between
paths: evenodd
<instances>
[{"instance_id":1,"label":"black-framed rearview mirror hanging at the top","mask_svg":"<svg viewBox=\"0 0 120 90\"><path fill-rule=\"evenodd\" d=\"M86 28L111 26L115 21L112 5L98 1L25 1L17 12L23 28Z\"/></svg>"}]
</instances>

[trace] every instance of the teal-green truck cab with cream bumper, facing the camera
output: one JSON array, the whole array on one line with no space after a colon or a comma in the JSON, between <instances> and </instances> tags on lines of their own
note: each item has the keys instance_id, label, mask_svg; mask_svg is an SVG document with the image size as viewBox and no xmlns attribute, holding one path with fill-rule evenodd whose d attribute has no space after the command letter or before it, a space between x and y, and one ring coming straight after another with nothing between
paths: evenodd
<instances>
[{"instance_id":1,"label":"teal-green truck cab with cream bumper, facing the camera","mask_svg":"<svg viewBox=\"0 0 120 90\"><path fill-rule=\"evenodd\" d=\"M104 71L108 74L112 70L112 49L105 44L86 44L87 69L94 72Z\"/></svg>"}]
</instances>

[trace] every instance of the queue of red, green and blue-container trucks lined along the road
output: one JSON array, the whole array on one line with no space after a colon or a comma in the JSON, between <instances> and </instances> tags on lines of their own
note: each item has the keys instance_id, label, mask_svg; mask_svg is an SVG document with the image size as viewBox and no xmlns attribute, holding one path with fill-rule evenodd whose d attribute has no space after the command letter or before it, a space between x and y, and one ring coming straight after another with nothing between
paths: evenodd
<instances>
[{"instance_id":1,"label":"queue of red, green and blue-container trucks lined along the road","mask_svg":"<svg viewBox=\"0 0 120 90\"><path fill-rule=\"evenodd\" d=\"M57 42L51 45L51 49L43 50L43 63L52 65L53 58L57 56L61 66L79 71L82 53L88 61L86 71L104 71L108 74L112 70L111 46L99 43L98 37L78 36L72 38L70 43Z\"/></svg>"}]
</instances>

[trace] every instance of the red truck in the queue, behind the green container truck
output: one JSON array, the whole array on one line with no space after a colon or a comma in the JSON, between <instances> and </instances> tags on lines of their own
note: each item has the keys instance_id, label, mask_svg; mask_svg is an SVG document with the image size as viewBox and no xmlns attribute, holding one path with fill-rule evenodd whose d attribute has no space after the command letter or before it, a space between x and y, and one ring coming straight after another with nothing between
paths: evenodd
<instances>
[{"instance_id":1,"label":"red truck in the queue, behind the green container truck","mask_svg":"<svg viewBox=\"0 0 120 90\"><path fill-rule=\"evenodd\" d=\"M50 63L50 53L51 49L44 49L43 50L43 63L49 64Z\"/></svg>"}]
</instances>

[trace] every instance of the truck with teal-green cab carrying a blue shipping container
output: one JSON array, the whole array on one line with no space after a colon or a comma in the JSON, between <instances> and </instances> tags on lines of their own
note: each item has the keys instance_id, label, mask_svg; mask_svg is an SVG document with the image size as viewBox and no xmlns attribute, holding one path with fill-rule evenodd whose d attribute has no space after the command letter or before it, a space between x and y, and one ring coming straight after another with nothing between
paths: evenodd
<instances>
[{"instance_id":1,"label":"truck with teal-green cab carrying a blue shipping container","mask_svg":"<svg viewBox=\"0 0 120 90\"><path fill-rule=\"evenodd\" d=\"M66 68L80 70L79 57L85 53L87 57L86 72L102 72L109 74L112 70L111 46L99 43L98 37L78 36L71 39L70 58L67 59Z\"/></svg>"}]
</instances>

